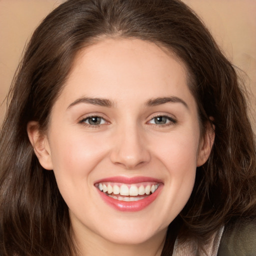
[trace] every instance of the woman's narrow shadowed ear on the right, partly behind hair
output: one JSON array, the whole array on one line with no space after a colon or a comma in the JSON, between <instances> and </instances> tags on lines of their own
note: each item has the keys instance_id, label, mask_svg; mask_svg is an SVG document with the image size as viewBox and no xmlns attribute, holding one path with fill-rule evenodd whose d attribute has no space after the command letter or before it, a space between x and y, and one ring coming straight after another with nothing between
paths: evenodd
<instances>
[{"instance_id":1,"label":"woman's narrow shadowed ear on the right, partly behind hair","mask_svg":"<svg viewBox=\"0 0 256 256\"><path fill-rule=\"evenodd\" d=\"M206 131L203 137L200 139L198 154L197 154L197 162L196 166L199 167L204 164L211 152L211 148L214 142L215 132L214 126L211 122L208 122L206 125Z\"/></svg>"}]
</instances>

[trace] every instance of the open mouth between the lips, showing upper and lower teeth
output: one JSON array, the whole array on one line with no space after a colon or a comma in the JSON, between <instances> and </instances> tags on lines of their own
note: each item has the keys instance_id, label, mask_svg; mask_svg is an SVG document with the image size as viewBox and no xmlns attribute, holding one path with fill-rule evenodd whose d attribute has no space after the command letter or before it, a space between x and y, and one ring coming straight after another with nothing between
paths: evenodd
<instances>
[{"instance_id":1,"label":"open mouth between the lips, showing upper and lower teeth","mask_svg":"<svg viewBox=\"0 0 256 256\"><path fill-rule=\"evenodd\" d=\"M107 196L119 201L138 201L154 193L159 183L141 182L124 184L113 182L99 182L95 187Z\"/></svg>"}]
</instances>

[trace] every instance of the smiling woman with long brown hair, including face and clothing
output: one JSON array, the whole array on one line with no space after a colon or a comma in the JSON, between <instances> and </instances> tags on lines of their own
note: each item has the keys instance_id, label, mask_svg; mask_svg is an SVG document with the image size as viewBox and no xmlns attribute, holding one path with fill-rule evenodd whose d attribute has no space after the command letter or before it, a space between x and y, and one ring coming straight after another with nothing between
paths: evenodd
<instances>
[{"instance_id":1,"label":"smiling woman with long brown hair, including face and clothing","mask_svg":"<svg viewBox=\"0 0 256 256\"><path fill-rule=\"evenodd\" d=\"M254 253L245 99L182 2L64 2L35 30L9 99L1 255ZM252 241L232 240L248 230Z\"/></svg>"}]
</instances>

